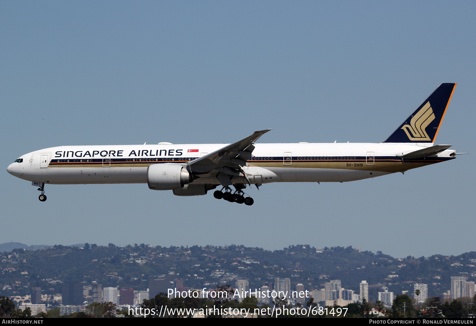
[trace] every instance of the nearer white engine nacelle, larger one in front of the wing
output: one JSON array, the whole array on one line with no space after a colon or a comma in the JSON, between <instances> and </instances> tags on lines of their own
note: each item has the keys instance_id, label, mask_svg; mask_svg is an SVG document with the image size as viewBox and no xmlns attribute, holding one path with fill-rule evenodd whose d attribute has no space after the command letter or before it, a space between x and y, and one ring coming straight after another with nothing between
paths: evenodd
<instances>
[{"instance_id":1,"label":"nearer white engine nacelle, larger one in front of the wing","mask_svg":"<svg viewBox=\"0 0 476 326\"><path fill-rule=\"evenodd\" d=\"M192 174L179 164L159 163L147 168L147 183L152 190L179 189L192 181Z\"/></svg>"}]
</instances>

